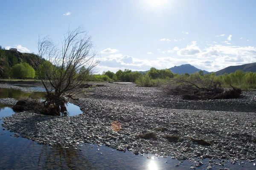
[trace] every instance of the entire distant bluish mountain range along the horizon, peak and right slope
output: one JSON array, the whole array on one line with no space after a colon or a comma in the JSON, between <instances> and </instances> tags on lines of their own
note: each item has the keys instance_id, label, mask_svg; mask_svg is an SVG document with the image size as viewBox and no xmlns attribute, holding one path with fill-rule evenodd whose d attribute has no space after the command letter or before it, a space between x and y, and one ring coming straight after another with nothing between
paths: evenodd
<instances>
[{"instance_id":1,"label":"entire distant bluish mountain range along the horizon, peak and right slope","mask_svg":"<svg viewBox=\"0 0 256 170\"><path fill-rule=\"evenodd\" d=\"M188 74L192 74L192 73L195 73L195 72L198 72L198 71L202 71L201 69L199 68L196 68L195 66L193 65L190 65L190 64L183 64L183 65L180 65L180 66L174 66L172 68L169 68L173 73L175 74L185 74L185 73L188 73ZM236 72L237 70L242 70L244 72L256 72L256 62L253 62L253 63L250 63L250 64L244 64L244 65L236 65L236 66L229 66L227 68L223 68L222 70L220 71L216 71L216 75L221 75L221 74L230 74L230 73L234 73ZM211 74L213 72L208 72L208 71L204 71L204 74ZM140 73L147 73L148 71L139 71Z\"/></svg>"}]
</instances>

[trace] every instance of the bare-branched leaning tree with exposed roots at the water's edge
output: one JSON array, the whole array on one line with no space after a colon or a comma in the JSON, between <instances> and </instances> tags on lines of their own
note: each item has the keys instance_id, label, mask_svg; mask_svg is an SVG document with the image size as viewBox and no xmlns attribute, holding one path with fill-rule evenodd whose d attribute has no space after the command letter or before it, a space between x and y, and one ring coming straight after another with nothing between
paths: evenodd
<instances>
[{"instance_id":1,"label":"bare-branched leaning tree with exposed roots at the water's edge","mask_svg":"<svg viewBox=\"0 0 256 170\"><path fill-rule=\"evenodd\" d=\"M93 68L99 63L91 38L81 26L64 34L61 47L49 37L39 36L38 56L48 61L42 64L45 79L38 71L47 92L44 114L66 115L66 97L73 99L73 90L88 79L88 74L92 74ZM47 69L49 65L51 69Z\"/></svg>"}]
</instances>

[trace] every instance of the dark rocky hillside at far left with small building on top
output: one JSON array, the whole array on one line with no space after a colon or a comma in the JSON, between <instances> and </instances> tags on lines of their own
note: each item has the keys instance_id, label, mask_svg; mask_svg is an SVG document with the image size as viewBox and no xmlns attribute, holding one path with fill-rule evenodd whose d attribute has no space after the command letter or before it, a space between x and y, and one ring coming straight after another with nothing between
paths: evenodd
<instances>
[{"instance_id":1,"label":"dark rocky hillside at far left with small building on top","mask_svg":"<svg viewBox=\"0 0 256 170\"><path fill-rule=\"evenodd\" d=\"M8 78L13 65L26 62L36 69L38 56L19 51L0 50L0 78Z\"/></svg>"}]
</instances>

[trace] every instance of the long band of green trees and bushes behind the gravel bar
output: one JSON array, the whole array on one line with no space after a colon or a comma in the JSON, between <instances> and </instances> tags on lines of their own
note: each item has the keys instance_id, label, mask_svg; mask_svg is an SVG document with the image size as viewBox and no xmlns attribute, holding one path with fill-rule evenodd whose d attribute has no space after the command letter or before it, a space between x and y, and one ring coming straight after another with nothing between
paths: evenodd
<instances>
[{"instance_id":1,"label":"long band of green trees and bushes behind the gravel bar","mask_svg":"<svg viewBox=\"0 0 256 170\"><path fill-rule=\"evenodd\" d=\"M256 89L256 73L244 72L237 70L235 73L223 74L216 76L215 73L204 74L203 71L195 72L193 74L174 74L170 69L158 70L151 68L147 73L138 71L131 71L125 69L119 70L116 73L111 71L103 72L103 74L91 75L90 81L124 81L135 82L138 86L143 87L159 87L166 82L174 79L184 79L191 82L220 82L222 87L230 87L233 85L242 90ZM201 84L201 83L198 83Z\"/></svg>"}]
</instances>

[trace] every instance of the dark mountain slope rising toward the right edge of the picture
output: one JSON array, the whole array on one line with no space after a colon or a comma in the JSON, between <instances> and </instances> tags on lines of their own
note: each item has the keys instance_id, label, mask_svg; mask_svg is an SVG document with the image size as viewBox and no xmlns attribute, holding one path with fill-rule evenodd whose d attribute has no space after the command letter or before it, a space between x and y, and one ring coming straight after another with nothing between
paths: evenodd
<instances>
[{"instance_id":1,"label":"dark mountain slope rising toward the right edge of the picture","mask_svg":"<svg viewBox=\"0 0 256 170\"><path fill-rule=\"evenodd\" d=\"M216 71L216 75L221 75L221 74L230 74L234 73L237 70L242 70L244 72L256 72L256 62L250 63L250 64L243 64L243 65L236 65L236 66L229 66L227 68L223 68L220 71Z\"/></svg>"}]
</instances>

